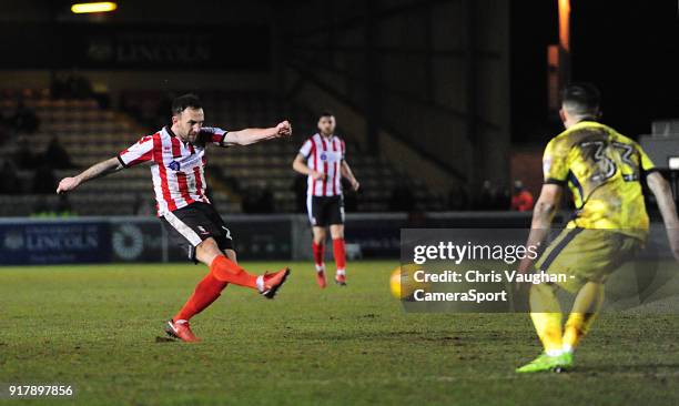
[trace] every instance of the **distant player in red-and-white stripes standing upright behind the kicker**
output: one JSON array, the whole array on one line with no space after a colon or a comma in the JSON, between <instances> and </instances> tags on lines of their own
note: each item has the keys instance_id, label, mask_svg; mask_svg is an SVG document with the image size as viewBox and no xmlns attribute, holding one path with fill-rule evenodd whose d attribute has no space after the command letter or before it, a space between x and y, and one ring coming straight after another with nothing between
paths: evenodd
<instances>
[{"instance_id":1,"label":"distant player in red-and-white stripes standing upright behind the kicker","mask_svg":"<svg viewBox=\"0 0 679 406\"><path fill-rule=\"evenodd\" d=\"M321 288L325 287L323 253L328 226L337 267L335 282L341 286L346 285L342 176L351 182L354 191L359 187L346 162L344 141L335 135L335 126L336 121L332 113L321 114L318 132L304 142L293 162L295 171L307 175L306 210L313 230L312 250L316 264L316 282Z\"/></svg>"}]
</instances>

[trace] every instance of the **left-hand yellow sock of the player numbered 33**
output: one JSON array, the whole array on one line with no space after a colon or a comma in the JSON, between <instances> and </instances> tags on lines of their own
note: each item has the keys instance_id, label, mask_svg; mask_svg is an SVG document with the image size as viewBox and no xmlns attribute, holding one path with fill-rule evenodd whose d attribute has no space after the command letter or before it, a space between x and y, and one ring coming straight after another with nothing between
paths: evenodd
<instances>
[{"instance_id":1,"label":"left-hand yellow sock of the player numbered 33","mask_svg":"<svg viewBox=\"0 0 679 406\"><path fill-rule=\"evenodd\" d=\"M554 288L546 284L530 287L530 318L548 355L558 355L563 348L561 307Z\"/></svg>"}]
</instances>

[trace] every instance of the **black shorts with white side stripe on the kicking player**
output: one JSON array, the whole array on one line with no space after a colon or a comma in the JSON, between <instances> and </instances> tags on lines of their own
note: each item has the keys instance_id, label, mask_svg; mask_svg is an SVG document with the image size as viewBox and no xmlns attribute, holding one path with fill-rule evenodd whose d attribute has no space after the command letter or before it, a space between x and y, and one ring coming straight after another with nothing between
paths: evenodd
<instances>
[{"instance_id":1,"label":"black shorts with white side stripe on the kicking player","mask_svg":"<svg viewBox=\"0 0 679 406\"><path fill-rule=\"evenodd\" d=\"M161 223L168 232L168 240L186 252L190 261L196 262L195 247L213 237L220 250L233 250L231 231L212 204L196 202L166 213Z\"/></svg>"}]
</instances>

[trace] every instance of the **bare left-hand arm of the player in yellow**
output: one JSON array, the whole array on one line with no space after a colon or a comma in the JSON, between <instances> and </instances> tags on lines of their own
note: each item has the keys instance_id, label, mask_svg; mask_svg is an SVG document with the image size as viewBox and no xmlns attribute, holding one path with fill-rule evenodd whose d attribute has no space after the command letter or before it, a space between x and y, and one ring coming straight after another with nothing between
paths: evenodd
<instances>
[{"instance_id":1,"label":"bare left-hand arm of the player in yellow","mask_svg":"<svg viewBox=\"0 0 679 406\"><path fill-rule=\"evenodd\" d=\"M554 215L559 210L563 193L564 187L558 184L546 183L543 185L540 196L533 209L530 234L528 234L526 246L539 246L545 241L549 227L551 227ZM518 272L527 272L530 265L533 265L533 260L525 257L519 264Z\"/></svg>"}]
</instances>

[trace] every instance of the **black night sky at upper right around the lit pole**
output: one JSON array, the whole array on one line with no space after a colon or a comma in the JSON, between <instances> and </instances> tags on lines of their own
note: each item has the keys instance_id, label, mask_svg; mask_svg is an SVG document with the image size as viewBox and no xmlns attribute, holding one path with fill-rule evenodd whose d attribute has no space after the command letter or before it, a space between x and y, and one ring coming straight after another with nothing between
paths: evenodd
<instances>
[{"instance_id":1,"label":"black night sky at upper right around the lit pole","mask_svg":"<svg viewBox=\"0 0 679 406\"><path fill-rule=\"evenodd\" d=\"M636 138L679 112L677 2L574 0L572 80L596 83L604 121ZM547 44L558 42L556 1L511 3L511 139L545 141ZM556 118L541 123L558 128Z\"/></svg>"}]
</instances>

